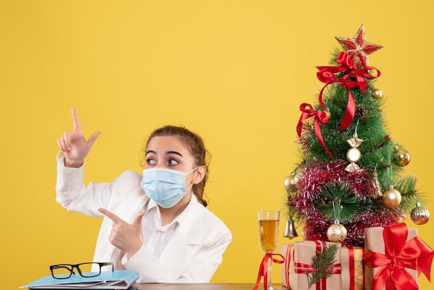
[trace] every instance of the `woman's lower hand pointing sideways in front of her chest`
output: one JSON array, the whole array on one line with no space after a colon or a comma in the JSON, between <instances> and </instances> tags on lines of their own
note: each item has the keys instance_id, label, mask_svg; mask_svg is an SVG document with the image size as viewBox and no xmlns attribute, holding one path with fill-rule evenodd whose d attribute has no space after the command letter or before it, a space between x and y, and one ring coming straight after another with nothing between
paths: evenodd
<instances>
[{"instance_id":1,"label":"woman's lower hand pointing sideways in front of her chest","mask_svg":"<svg viewBox=\"0 0 434 290\"><path fill-rule=\"evenodd\" d=\"M98 211L113 221L112 232L108 237L110 243L132 257L142 245L140 239L141 218L145 213L139 213L130 224L108 210L100 208Z\"/></svg>"}]
</instances>

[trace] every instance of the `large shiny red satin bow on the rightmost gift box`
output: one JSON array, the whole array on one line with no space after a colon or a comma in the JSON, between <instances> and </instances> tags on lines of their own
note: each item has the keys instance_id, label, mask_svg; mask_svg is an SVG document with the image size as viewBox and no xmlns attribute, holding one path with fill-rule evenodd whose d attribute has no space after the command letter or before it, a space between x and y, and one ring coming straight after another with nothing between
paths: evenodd
<instances>
[{"instance_id":1,"label":"large shiny red satin bow on the rightmost gift box","mask_svg":"<svg viewBox=\"0 0 434 290\"><path fill-rule=\"evenodd\" d=\"M431 263L434 251L419 237L406 242L408 228L405 223L394 223L384 228L385 255L372 250L365 251L365 265L381 267L375 274L372 290L417 290L417 282L405 268L417 269L431 282Z\"/></svg>"}]
</instances>

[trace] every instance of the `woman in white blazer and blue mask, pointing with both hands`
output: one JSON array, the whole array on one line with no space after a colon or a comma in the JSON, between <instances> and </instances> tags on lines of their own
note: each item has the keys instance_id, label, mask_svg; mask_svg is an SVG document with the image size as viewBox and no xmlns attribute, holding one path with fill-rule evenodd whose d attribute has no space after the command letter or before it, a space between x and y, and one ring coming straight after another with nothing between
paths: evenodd
<instances>
[{"instance_id":1,"label":"woman in white blazer and blue mask, pointing with both hands","mask_svg":"<svg viewBox=\"0 0 434 290\"><path fill-rule=\"evenodd\" d=\"M207 283L232 241L205 207L208 152L185 128L155 130L146 144L143 176L125 171L113 182L83 182L84 160L101 132L85 139L76 110L73 132L58 140L56 201L67 210L104 216L95 262L134 269L138 282Z\"/></svg>"}]
</instances>

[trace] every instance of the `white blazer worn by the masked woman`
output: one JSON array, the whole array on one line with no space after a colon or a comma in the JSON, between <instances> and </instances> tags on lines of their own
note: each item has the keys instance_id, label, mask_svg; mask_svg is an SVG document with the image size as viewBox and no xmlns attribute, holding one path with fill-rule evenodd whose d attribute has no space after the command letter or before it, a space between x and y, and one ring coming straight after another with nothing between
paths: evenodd
<instances>
[{"instance_id":1,"label":"white blazer worn by the masked woman","mask_svg":"<svg viewBox=\"0 0 434 290\"><path fill-rule=\"evenodd\" d=\"M64 154L58 153L56 201L69 211L89 216L103 216L98 208L113 212L132 223L149 198L141 189L141 175L125 171L113 182L83 182L84 166L64 167ZM208 283L222 262L232 235L217 216L193 198L182 223L157 259L141 246L133 257L113 246L108 240L112 221L104 217L94 254L94 262L113 262L116 269L134 269L141 283Z\"/></svg>"}]
</instances>

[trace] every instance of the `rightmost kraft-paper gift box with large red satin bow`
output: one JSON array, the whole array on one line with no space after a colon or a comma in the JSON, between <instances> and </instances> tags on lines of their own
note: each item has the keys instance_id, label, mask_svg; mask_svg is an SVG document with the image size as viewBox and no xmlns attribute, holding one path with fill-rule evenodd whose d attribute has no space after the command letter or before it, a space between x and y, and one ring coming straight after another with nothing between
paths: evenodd
<instances>
[{"instance_id":1,"label":"rightmost kraft-paper gift box with large red satin bow","mask_svg":"<svg viewBox=\"0 0 434 290\"><path fill-rule=\"evenodd\" d=\"M365 289L419 289L419 273L430 280L433 253L405 223L366 228Z\"/></svg>"}]
</instances>

